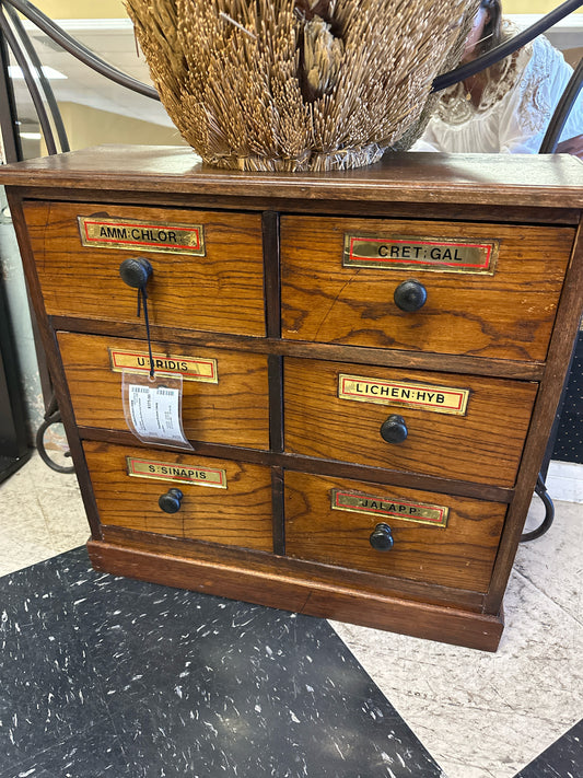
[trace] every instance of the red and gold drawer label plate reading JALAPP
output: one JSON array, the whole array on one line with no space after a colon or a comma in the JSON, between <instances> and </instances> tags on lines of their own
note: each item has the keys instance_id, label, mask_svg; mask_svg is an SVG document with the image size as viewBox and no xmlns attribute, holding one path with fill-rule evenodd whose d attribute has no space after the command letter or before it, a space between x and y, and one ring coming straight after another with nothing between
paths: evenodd
<instances>
[{"instance_id":1,"label":"red and gold drawer label plate reading JALAPP","mask_svg":"<svg viewBox=\"0 0 583 778\"><path fill-rule=\"evenodd\" d=\"M383 519L399 519L416 524L447 526L450 509L445 506L428 506L423 502L404 502L390 497L363 495L361 491L330 489L331 508L335 511L366 513Z\"/></svg>"}]
</instances>

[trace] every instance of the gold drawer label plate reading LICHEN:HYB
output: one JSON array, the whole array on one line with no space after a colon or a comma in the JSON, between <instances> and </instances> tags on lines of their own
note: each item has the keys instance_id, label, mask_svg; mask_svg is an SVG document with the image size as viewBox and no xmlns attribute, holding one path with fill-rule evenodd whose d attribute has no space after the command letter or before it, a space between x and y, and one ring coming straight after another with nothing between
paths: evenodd
<instances>
[{"instance_id":1,"label":"gold drawer label plate reading LICHEN:HYB","mask_svg":"<svg viewBox=\"0 0 583 778\"><path fill-rule=\"evenodd\" d=\"M338 376L338 397L360 403L405 405L436 414L465 416L469 390L450 386L430 386L415 382L365 379L361 375Z\"/></svg>"}]
</instances>

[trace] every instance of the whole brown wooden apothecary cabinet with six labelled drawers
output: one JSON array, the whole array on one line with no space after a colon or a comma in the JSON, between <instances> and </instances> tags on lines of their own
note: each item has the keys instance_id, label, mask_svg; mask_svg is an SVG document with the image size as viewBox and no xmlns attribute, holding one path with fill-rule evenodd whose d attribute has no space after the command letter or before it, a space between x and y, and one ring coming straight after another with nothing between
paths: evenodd
<instances>
[{"instance_id":1,"label":"whole brown wooden apothecary cabinet with six labelled drawers","mask_svg":"<svg viewBox=\"0 0 583 778\"><path fill-rule=\"evenodd\" d=\"M95 568L495 650L581 316L579 160L241 174L104 147L2 173ZM191 452L125 422L128 257Z\"/></svg>"}]
</instances>

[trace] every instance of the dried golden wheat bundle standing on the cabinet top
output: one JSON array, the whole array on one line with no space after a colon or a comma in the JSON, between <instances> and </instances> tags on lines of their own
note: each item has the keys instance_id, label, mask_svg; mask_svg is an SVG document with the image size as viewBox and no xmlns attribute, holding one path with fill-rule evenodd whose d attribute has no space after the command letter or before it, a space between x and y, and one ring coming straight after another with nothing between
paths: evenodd
<instances>
[{"instance_id":1,"label":"dried golden wheat bundle standing on the cabinet top","mask_svg":"<svg viewBox=\"0 0 583 778\"><path fill-rule=\"evenodd\" d=\"M126 5L170 117L207 163L303 171L409 142L478 0Z\"/></svg>"}]
</instances>

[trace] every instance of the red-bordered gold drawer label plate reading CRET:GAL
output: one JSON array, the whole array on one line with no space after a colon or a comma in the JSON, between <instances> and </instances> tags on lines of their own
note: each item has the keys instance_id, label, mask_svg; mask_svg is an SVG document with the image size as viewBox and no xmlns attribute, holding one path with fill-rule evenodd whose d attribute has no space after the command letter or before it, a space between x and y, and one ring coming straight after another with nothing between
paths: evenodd
<instances>
[{"instance_id":1,"label":"red-bordered gold drawer label plate reading CRET:GAL","mask_svg":"<svg viewBox=\"0 0 583 778\"><path fill-rule=\"evenodd\" d=\"M345 267L493 276L500 241L345 234Z\"/></svg>"}]
</instances>

